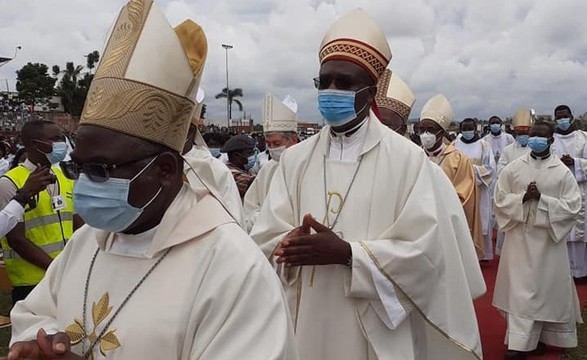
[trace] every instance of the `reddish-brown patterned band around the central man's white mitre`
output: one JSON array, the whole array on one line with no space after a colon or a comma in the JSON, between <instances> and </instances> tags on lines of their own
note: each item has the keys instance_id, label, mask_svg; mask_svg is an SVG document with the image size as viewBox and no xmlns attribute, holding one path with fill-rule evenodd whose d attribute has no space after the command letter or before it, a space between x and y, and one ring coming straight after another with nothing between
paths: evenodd
<instances>
[{"instance_id":1,"label":"reddish-brown patterned band around the central man's white mitre","mask_svg":"<svg viewBox=\"0 0 587 360\"><path fill-rule=\"evenodd\" d=\"M383 74L389 63L389 60L377 50L351 39L335 40L324 46L320 51L320 62L322 63L330 57L352 58L362 64L375 79Z\"/></svg>"}]
</instances>

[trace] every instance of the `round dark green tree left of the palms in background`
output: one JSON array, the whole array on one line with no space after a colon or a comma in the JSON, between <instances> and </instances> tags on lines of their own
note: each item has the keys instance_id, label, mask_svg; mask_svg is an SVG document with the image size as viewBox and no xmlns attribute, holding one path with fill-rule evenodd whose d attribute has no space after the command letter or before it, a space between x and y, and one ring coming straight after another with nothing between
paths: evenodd
<instances>
[{"instance_id":1,"label":"round dark green tree left of the palms in background","mask_svg":"<svg viewBox=\"0 0 587 360\"><path fill-rule=\"evenodd\" d=\"M48 73L45 64L27 63L16 71L18 97L27 105L48 104L55 91L55 80Z\"/></svg>"}]
</instances>

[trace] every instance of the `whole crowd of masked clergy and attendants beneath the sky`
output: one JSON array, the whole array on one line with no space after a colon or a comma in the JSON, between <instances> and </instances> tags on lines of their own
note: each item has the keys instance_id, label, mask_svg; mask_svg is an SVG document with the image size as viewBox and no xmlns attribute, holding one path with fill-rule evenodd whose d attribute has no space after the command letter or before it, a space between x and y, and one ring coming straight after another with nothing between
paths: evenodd
<instances>
[{"instance_id":1,"label":"whole crowd of masked clergy and attendants beneath the sky","mask_svg":"<svg viewBox=\"0 0 587 360\"><path fill-rule=\"evenodd\" d=\"M438 94L410 136L416 98L358 9L320 45L318 134L267 94L263 134L227 138L197 127L206 54L198 24L131 0L75 142L33 120L5 143L9 360L481 359L494 255L504 358L577 346L587 133L568 106L451 137Z\"/></svg>"}]
</instances>

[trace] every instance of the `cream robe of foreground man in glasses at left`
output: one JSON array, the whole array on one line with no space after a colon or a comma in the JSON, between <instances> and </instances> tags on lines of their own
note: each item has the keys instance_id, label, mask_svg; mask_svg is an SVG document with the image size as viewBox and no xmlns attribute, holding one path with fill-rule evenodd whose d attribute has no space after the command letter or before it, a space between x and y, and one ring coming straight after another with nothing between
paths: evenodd
<instances>
[{"instance_id":1,"label":"cream robe of foreground man in glasses at left","mask_svg":"<svg viewBox=\"0 0 587 360\"><path fill-rule=\"evenodd\" d=\"M274 270L216 199L187 185L144 256L111 253L112 234L105 231L87 225L77 231L41 283L12 310L12 343L34 339L41 327L48 333L67 329L72 338L80 334L86 277L98 247L85 329L96 334L172 249L100 338L94 359L298 359ZM89 341L84 343L87 349ZM72 350L80 354L81 346Z\"/></svg>"}]
</instances>

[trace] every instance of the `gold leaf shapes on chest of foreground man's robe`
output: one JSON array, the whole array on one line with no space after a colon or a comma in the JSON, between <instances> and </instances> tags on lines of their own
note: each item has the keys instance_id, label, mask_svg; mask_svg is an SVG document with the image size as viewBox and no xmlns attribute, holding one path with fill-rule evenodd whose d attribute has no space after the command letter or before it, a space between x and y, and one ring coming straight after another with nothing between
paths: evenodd
<instances>
[{"instance_id":1,"label":"gold leaf shapes on chest of foreground man's robe","mask_svg":"<svg viewBox=\"0 0 587 360\"><path fill-rule=\"evenodd\" d=\"M97 303L92 303L92 322L94 328L87 334L84 327L83 321L80 319L74 319L73 324L65 328L65 333L69 336L71 345L77 345L84 339L88 339L90 343L93 343L96 338L96 328L110 315L112 312L112 306L110 306L110 296L106 292ZM106 352L118 349L121 344L115 335L116 329L111 329L106 332L99 339L100 342L100 353L102 356L106 356ZM93 355L90 354L88 359L93 359Z\"/></svg>"}]
</instances>

